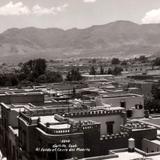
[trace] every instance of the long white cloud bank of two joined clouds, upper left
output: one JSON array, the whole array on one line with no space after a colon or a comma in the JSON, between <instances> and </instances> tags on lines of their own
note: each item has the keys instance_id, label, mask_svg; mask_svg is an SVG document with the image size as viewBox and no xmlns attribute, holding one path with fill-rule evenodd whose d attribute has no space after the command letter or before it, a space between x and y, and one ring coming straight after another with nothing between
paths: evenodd
<instances>
[{"instance_id":1,"label":"long white cloud bank of two joined clouds, upper left","mask_svg":"<svg viewBox=\"0 0 160 160\"><path fill-rule=\"evenodd\" d=\"M51 8L45 8L39 4L34 5L31 9L23 4L23 2L13 3L12 1L8 4L0 7L1 16L20 16L20 15L56 15L58 12L62 12L68 4L61 6L53 6Z\"/></svg>"}]
</instances>

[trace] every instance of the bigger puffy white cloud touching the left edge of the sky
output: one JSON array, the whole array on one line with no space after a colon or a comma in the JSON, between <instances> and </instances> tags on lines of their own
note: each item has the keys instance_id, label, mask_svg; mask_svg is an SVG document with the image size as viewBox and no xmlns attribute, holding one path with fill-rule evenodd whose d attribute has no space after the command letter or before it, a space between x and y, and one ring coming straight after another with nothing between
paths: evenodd
<instances>
[{"instance_id":1,"label":"bigger puffy white cloud touching the left edge of the sky","mask_svg":"<svg viewBox=\"0 0 160 160\"><path fill-rule=\"evenodd\" d=\"M0 7L0 15L28 15L30 10L22 2L13 3L12 1L8 4Z\"/></svg>"}]
</instances>

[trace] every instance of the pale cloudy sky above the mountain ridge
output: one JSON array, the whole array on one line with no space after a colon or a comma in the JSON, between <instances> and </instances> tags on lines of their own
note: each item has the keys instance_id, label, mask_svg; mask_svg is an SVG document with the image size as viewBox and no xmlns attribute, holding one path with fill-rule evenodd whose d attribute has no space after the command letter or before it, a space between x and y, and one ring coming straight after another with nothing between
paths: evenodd
<instances>
[{"instance_id":1,"label":"pale cloudy sky above the mountain ridge","mask_svg":"<svg viewBox=\"0 0 160 160\"><path fill-rule=\"evenodd\" d=\"M160 0L0 0L0 32L87 28L117 20L160 23Z\"/></svg>"}]
</instances>

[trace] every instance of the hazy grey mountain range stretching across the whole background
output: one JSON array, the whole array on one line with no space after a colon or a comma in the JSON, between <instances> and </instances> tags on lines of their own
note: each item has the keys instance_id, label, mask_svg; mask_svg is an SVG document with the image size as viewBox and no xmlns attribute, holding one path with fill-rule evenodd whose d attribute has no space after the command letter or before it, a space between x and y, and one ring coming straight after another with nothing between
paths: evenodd
<instances>
[{"instance_id":1,"label":"hazy grey mountain range stretching across the whole background","mask_svg":"<svg viewBox=\"0 0 160 160\"><path fill-rule=\"evenodd\" d=\"M159 56L160 24L116 21L86 29L12 28L0 34L0 59Z\"/></svg>"}]
</instances>

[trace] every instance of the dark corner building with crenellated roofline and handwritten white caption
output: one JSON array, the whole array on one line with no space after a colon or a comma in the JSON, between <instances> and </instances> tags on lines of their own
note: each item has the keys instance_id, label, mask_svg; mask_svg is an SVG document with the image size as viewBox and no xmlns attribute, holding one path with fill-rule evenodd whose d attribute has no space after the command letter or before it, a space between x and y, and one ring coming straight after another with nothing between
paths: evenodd
<instances>
[{"instance_id":1,"label":"dark corner building with crenellated roofline and handwritten white caption","mask_svg":"<svg viewBox=\"0 0 160 160\"><path fill-rule=\"evenodd\" d=\"M114 134L119 134L120 125L125 123L123 111L124 109L121 108L112 111L92 110L63 116L52 115L47 110L22 112L18 118L20 157L22 159L49 160L56 159L57 156L59 159L64 159L100 155L101 144L103 144L100 141L101 135L114 137ZM125 133L121 134L125 135ZM64 146L60 147L64 147L64 152L57 151L56 153L52 146L63 144L63 141L65 141ZM76 151L68 152L71 145L76 146ZM66 146L69 148L66 149ZM43 148L48 148L49 151L42 153ZM53 153L50 150L53 150ZM105 151L105 153L107 152L108 150Z\"/></svg>"}]
</instances>

